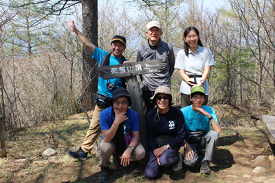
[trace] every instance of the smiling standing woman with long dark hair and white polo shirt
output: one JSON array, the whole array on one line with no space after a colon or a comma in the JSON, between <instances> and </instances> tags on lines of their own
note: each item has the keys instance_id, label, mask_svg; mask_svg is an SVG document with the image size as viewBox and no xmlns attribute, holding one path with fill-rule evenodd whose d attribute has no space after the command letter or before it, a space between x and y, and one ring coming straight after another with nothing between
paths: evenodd
<instances>
[{"instance_id":1,"label":"smiling standing woman with long dark hair and white polo shirt","mask_svg":"<svg viewBox=\"0 0 275 183\"><path fill-rule=\"evenodd\" d=\"M214 66L214 59L210 49L203 47L199 38L199 31L196 27L188 27L184 31L184 49L177 53L175 69L179 69L182 81L179 92L181 93L181 107L190 106L189 95L193 86L202 86L206 91L208 103L209 86L208 73L211 66Z\"/></svg>"}]
</instances>

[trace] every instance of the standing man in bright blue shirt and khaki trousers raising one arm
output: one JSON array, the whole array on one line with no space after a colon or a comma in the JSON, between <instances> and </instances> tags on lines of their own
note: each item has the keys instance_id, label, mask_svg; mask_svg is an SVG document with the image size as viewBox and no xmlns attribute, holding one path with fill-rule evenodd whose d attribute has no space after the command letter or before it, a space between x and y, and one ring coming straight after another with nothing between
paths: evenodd
<instances>
[{"instance_id":1,"label":"standing man in bright blue shirt and khaki trousers raising one arm","mask_svg":"<svg viewBox=\"0 0 275 183\"><path fill-rule=\"evenodd\" d=\"M100 66L123 64L127 62L122 53L126 49L126 39L123 36L115 35L111 40L111 53L104 51L96 47L91 40L86 38L74 25L74 21L69 20L67 23L68 27L72 32L76 33L76 36L83 42L83 44L91 50L93 58L98 61ZM99 114L102 110L109 107L108 99L112 97L113 90L120 88L124 83L122 78L113 78L109 80L103 80L101 77L98 78L98 93L96 95L96 107L94 109L93 119L89 126L89 130L85 136L83 144L79 147L78 151L69 151L68 155L72 158L79 160L86 160L87 154L91 151L100 135L100 122Z\"/></svg>"}]
</instances>

